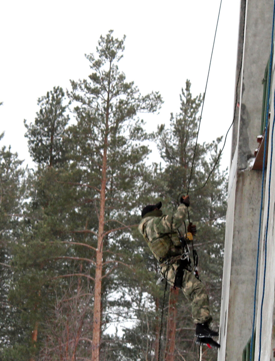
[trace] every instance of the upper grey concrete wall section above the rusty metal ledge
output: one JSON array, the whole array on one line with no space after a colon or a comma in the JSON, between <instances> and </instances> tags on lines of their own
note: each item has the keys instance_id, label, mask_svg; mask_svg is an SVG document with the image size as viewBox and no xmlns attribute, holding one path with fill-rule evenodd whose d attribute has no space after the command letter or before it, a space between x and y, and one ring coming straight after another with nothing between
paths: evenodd
<instances>
[{"instance_id":1,"label":"upper grey concrete wall section above the rusty metal ledge","mask_svg":"<svg viewBox=\"0 0 275 361\"><path fill-rule=\"evenodd\" d=\"M270 55L273 0L248 0L240 99L238 169L254 157L260 134L262 79Z\"/></svg>"}]
</instances>

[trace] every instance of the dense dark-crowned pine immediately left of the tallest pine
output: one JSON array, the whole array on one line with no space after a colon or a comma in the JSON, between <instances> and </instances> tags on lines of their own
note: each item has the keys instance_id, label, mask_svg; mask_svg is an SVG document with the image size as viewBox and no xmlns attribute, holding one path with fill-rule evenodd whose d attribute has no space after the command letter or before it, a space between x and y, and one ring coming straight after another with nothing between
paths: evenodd
<instances>
[{"instance_id":1,"label":"dense dark-crowned pine immediately left of the tallest pine","mask_svg":"<svg viewBox=\"0 0 275 361\"><path fill-rule=\"evenodd\" d=\"M66 273L68 269L60 257L66 255L62 242L68 209L66 197L71 194L68 187L56 182L58 169L66 159L64 133L69 118L65 115L64 99L62 88L54 87L38 99L40 111L35 123L27 125L24 120L30 155L38 166L26 173L23 214L11 247L10 265L14 272L9 303L19 310L17 328L23 332L17 331L20 337L6 349L7 359L19 352L22 360L23 357L32 360L39 351L43 321L54 306L54 279L60 270Z\"/></svg>"}]
</instances>

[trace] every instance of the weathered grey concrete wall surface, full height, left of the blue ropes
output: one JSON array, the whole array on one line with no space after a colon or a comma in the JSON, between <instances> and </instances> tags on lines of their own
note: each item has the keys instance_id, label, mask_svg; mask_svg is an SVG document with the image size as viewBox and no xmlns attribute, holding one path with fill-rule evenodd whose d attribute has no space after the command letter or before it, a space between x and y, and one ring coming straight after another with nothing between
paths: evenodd
<instances>
[{"instance_id":1,"label":"weathered grey concrete wall surface, full height, left of the blue ropes","mask_svg":"<svg viewBox=\"0 0 275 361\"><path fill-rule=\"evenodd\" d=\"M243 348L252 333L262 172L252 171L251 161L257 147L256 137L260 134L262 79L270 53L272 13L273 0L240 2L236 68L238 80L243 56L237 95L240 108L232 139L218 361L242 360ZM271 324L272 315L273 308L269 316Z\"/></svg>"}]
</instances>

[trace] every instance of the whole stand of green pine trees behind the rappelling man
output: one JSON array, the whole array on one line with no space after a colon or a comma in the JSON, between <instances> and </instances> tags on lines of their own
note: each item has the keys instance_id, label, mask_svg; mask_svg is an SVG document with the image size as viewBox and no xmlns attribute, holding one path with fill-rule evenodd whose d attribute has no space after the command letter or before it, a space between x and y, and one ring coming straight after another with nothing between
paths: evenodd
<instances>
[{"instance_id":1,"label":"whole stand of green pine trees behind the rappelling man","mask_svg":"<svg viewBox=\"0 0 275 361\"><path fill-rule=\"evenodd\" d=\"M24 173L10 149L0 152L3 361L195 357L181 291L166 299L169 326L159 345L164 285L156 284L158 264L137 225L145 204L161 200L163 212L172 213L186 193L203 98L192 97L187 81L170 126L147 134L141 114L156 112L162 98L141 95L126 81L119 69L124 41L112 30L101 36L96 54L85 55L89 77L71 80L66 95L54 87L38 99L34 123L24 120L35 169ZM146 140L155 142L163 164L148 166ZM199 271L216 323L225 173L217 166L201 187L220 140L197 145L189 191Z\"/></svg>"}]
</instances>

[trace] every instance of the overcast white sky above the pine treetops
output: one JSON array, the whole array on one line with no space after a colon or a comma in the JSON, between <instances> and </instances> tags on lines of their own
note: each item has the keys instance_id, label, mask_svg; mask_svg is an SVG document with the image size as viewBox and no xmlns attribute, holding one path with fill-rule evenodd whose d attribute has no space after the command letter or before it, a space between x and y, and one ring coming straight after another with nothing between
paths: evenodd
<instances>
[{"instance_id":1,"label":"overcast white sky above the pine treetops","mask_svg":"<svg viewBox=\"0 0 275 361\"><path fill-rule=\"evenodd\" d=\"M199 142L225 135L233 119L240 0L223 0L204 103ZM148 128L168 125L190 79L203 93L220 0L3 1L0 12L0 132L19 158L28 157L23 119L33 122L37 98L90 73L84 54L101 34L126 35L120 70L142 93L159 91L164 104ZM229 166L231 135L222 157Z\"/></svg>"}]
</instances>

